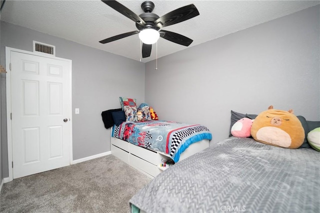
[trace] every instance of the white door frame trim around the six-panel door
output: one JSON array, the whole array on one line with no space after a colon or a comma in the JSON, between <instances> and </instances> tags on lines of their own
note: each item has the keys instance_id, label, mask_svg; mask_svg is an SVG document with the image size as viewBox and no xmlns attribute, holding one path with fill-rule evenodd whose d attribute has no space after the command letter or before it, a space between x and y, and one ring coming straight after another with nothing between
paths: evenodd
<instances>
[{"instance_id":1,"label":"white door frame trim around the six-panel door","mask_svg":"<svg viewBox=\"0 0 320 213\"><path fill-rule=\"evenodd\" d=\"M69 124L70 124L70 134L69 134L69 164L72 164L72 60L65 59L61 57L55 57L53 55L44 55L43 53L37 53L37 52L31 52L11 47L5 47L5 67L7 70L6 74L6 126L7 126L7 148L8 148L8 181L13 180L13 168L12 168L12 160L13 160L13 150L12 150L12 120L10 118L11 114L11 69L10 69L10 61L11 61L11 51L19 52L19 53L25 53L25 54L31 54L35 56L41 56L41 57L48 57L52 59L58 59L58 60L64 60L68 61L70 64L70 76L69 76Z\"/></svg>"}]
</instances>

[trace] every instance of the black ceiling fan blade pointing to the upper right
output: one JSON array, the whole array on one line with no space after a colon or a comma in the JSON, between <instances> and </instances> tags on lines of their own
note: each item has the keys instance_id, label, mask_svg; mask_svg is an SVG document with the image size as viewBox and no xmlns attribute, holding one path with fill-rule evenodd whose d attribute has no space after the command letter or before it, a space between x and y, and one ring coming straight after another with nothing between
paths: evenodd
<instances>
[{"instance_id":1,"label":"black ceiling fan blade pointing to the upper right","mask_svg":"<svg viewBox=\"0 0 320 213\"><path fill-rule=\"evenodd\" d=\"M197 8L194 6L194 4L189 4L162 15L154 22L157 27L163 27L179 23L197 15L199 15Z\"/></svg>"}]
</instances>

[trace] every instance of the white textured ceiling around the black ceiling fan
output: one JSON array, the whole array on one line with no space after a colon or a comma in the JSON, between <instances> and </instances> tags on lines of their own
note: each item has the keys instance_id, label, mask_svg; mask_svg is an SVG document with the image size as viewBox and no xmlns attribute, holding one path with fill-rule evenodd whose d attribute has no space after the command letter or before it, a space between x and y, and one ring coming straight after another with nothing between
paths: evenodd
<instances>
[{"instance_id":1,"label":"white textured ceiling around the black ceiling fan","mask_svg":"<svg viewBox=\"0 0 320 213\"><path fill-rule=\"evenodd\" d=\"M143 12L140 7L143 0L119 0L119 2L136 14ZM153 0L155 7L152 12L162 16L176 8L193 3L200 15L162 28L193 39L188 46L191 47L319 2L318 0ZM98 41L104 38L136 30L135 23L131 19L100 0L6 0L1 11L1 20L142 62L188 48L159 38L157 45L152 45L151 56L141 58L138 34L106 44L99 43Z\"/></svg>"}]
</instances>

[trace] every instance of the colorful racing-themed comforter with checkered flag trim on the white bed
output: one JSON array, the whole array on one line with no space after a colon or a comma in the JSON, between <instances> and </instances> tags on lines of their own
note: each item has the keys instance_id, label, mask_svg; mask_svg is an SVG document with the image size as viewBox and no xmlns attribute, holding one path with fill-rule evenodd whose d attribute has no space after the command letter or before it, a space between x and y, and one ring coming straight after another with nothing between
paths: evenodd
<instances>
[{"instance_id":1,"label":"colorful racing-themed comforter with checkered flag trim on the white bed","mask_svg":"<svg viewBox=\"0 0 320 213\"><path fill-rule=\"evenodd\" d=\"M122 122L114 125L112 137L117 137L138 146L167 153L174 162L192 143L202 139L210 140L212 134L204 125L173 121L148 120L143 122Z\"/></svg>"}]
</instances>

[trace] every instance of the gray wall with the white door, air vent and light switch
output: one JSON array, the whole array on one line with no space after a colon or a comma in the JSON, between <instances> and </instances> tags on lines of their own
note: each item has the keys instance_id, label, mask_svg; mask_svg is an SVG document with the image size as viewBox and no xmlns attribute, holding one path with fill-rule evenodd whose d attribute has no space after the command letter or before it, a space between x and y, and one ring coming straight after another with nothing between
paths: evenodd
<instances>
[{"instance_id":1,"label":"gray wall with the white door, air vent and light switch","mask_svg":"<svg viewBox=\"0 0 320 213\"><path fill-rule=\"evenodd\" d=\"M32 40L55 45L57 57L72 60L73 160L110 151L110 130L104 128L101 112L119 108L119 96L144 102L144 63L1 22L1 64L5 46L32 51ZM80 113L74 114L74 108ZM5 149L6 143L2 141ZM6 177L7 152L2 159Z\"/></svg>"}]
</instances>

